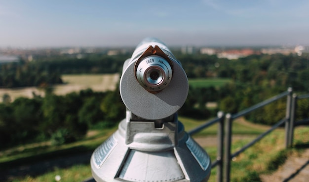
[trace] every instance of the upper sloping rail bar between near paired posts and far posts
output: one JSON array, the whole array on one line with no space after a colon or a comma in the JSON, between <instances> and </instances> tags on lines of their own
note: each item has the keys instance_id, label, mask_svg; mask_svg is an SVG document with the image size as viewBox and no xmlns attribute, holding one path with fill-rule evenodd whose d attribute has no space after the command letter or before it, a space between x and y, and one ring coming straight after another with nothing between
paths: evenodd
<instances>
[{"instance_id":1,"label":"upper sloping rail bar between near paired posts and far posts","mask_svg":"<svg viewBox=\"0 0 309 182\"><path fill-rule=\"evenodd\" d=\"M260 102L260 103L254 105L254 106L251 106L251 107L249 107L247 109L244 109L244 110L242 110L242 111L232 115L232 119L234 120L234 119L239 118L239 117L241 117L241 116L243 116L245 114L248 114L248 113L250 113L250 112L252 112L252 111L254 111L256 109L259 109L259 108L261 108L261 107L263 107L263 106L265 106L267 104L270 104L271 102L276 101L276 100L278 100L278 99L288 95L289 93L290 93L289 91L282 92L282 93L280 93L278 95L275 95L275 96L273 96L273 97L271 97L271 98L269 98L267 100L264 100L263 102Z\"/></svg>"}]
</instances>

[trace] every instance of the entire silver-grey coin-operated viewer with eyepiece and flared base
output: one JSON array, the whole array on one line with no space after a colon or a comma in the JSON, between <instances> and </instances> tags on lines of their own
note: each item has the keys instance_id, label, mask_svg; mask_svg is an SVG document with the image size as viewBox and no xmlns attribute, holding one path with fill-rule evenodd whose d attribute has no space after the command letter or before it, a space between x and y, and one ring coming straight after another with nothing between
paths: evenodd
<instances>
[{"instance_id":1,"label":"entire silver-grey coin-operated viewer with eyepiece and flared base","mask_svg":"<svg viewBox=\"0 0 309 182\"><path fill-rule=\"evenodd\" d=\"M126 118L91 156L97 182L206 182L208 154L184 131L177 111L188 78L161 41L144 39L124 62L120 95Z\"/></svg>"}]
</instances>

